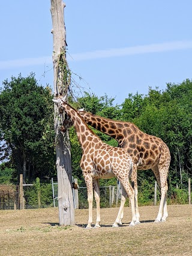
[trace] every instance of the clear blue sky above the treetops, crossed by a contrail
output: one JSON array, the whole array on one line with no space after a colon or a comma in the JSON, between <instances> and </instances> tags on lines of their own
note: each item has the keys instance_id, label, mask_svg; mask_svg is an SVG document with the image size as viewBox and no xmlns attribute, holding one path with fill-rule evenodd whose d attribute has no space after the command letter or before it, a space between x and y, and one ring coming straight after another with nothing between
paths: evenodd
<instances>
[{"instance_id":1,"label":"clear blue sky above the treetops, crossed by a contrail","mask_svg":"<svg viewBox=\"0 0 192 256\"><path fill-rule=\"evenodd\" d=\"M121 104L192 78L192 1L65 1L67 60L79 86ZM35 72L53 85L50 1L0 2L0 87ZM83 89L82 89L83 90Z\"/></svg>"}]
</instances>

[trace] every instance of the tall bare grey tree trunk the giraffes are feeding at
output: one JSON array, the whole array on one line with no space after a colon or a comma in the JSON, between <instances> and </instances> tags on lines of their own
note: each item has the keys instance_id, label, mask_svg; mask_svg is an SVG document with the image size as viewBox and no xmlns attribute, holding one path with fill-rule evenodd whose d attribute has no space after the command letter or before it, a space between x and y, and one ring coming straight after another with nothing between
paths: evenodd
<instances>
[{"instance_id":1,"label":"tall bare grey tree trunk the giraffes are feeding at","mask_svg":"<svg viewBox=\"0 0 192 256\"><path fill-rule=\"evenodd\" d=\"M68 86L70 84L70 71L65 58L66 31L64 23L64 7L65 4L62 0L51 0L50 11L52 14L53 25L52 56L55 98L67 94ZM74 225L70 141L68 131L62 133L60 130L64 116L59 114L56 104L54 104L54 111L59 225Z\"/></svg>"}]
</instances>

